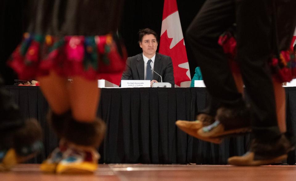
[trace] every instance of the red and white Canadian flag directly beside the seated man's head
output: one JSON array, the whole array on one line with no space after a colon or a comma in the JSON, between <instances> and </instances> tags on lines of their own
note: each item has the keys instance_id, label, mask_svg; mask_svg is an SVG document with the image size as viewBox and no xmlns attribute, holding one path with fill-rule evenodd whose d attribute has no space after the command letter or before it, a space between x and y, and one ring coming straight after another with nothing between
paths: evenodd
<instances>
[{"instance_id":1,"label":"red and white Canadian flag directly beside the seated man's head","mask_svg":"<svg viewBox=\"0 0 296 181\"><path fill-rule=\"evenodd\" d=\"M176 0L164 1L159 53L172 58L176 87L190 87L189 64Z\"/></svg>"}]
</instances>

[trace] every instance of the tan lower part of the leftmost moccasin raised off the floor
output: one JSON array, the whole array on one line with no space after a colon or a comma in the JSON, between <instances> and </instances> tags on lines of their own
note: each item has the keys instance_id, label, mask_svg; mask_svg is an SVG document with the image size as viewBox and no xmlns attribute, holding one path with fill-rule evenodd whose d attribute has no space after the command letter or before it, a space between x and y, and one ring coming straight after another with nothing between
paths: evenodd
<instances>
[{"instance_id":1,"label":"tan lower part of the leftmost moccasin raised off the floor","mask_svg":"<svg viewBox=\"0 0 296 181\"><path fill-rule=\"evenodd\" d=\"M191 121L193 122L193 121ZM184 131L185 133L189 134L190 136L193 136L197 139L206 141L206 142L212 142L212 143L216 143L216 144L220 144L222 142L221 138L208 138L208 137L203 137L201 135L198 134L198 130L200 129L190 129L186 126L182 126L182 123L184 123L184 121L178 120L176 121L176 125L179 127L180 130Z\"/></svg>"}]
</instances>

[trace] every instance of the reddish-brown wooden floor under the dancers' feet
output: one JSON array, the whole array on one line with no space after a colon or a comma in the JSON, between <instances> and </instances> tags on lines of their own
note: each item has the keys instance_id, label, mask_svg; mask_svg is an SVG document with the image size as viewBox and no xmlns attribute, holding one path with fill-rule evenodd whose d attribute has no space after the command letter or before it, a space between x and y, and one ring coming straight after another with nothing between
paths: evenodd
<instances>
[{"instance_id":1,"label":"reddish-brown wooden floor under the dancers' feet","mask_svg":"<svg viewBox=\"0 0 296 181\"><path fill-rule=\"evenodd\" d=\"M2 181L93 180L296 180L296 166L235 167L229 165L104 164L93 175L43 174L38 164L19 164L0 172Z\"/></svg>"}]
</instances>

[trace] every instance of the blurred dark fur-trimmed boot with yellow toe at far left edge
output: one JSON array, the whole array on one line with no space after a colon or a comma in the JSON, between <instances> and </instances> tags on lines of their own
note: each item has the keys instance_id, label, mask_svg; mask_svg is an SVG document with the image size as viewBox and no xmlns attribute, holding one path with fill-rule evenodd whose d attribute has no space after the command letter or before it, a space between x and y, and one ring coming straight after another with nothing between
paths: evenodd
<instances>
[{"instance_id":1,"label":"blurred dark fur-trimmed boot with yellow toe at far left edge","mask_svg":"<svg viewBox=\"0 0 296 181\"><path fill-rule=\"evenodd\" d=\"M17 128L1 131L0 137L0 171L9 170L43 150L42 130L35 119L26 120Z\"/></svg>"}]
</instances>

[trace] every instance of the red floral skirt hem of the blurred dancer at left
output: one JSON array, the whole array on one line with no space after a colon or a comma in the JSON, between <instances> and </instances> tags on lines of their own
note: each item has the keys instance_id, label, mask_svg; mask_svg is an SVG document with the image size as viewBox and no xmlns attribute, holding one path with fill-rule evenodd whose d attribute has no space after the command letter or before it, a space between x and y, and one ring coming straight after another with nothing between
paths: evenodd
<instances>
[{"instance_id":1,"label":"red floral skirt hem of the blurred dancer at left","mask_svg":"<svg viewBox=\"0 0 296 181\"><path fill-rule=\"evenodd\" d=\"M118 79L127 55L124 46L115 40L112 35L59 38L25 33L8 64L24 80L46 76L51 70L65 77ZM120 78L117 81L119 84Z\"/></svg>"}]
</instances>

